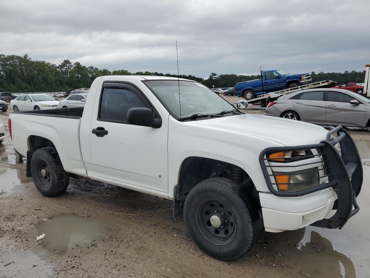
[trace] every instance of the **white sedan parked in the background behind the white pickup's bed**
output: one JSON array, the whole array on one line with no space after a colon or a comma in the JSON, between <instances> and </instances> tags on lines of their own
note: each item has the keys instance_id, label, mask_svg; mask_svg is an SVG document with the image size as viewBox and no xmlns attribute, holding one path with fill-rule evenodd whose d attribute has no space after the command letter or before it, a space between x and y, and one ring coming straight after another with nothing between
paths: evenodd
<instances>
[{"instance_id":1,"label":"white sedan parked in the background behind the white pickup's bed","mask_svg":"<svg viewBox=\"0 0 370 278\"><path fill-rule=\"evenodd\" d=\"M11 100L10 108L14 112L56 109L58 103L58 100L47 94L27 94Z\"/></svg>"}]
</instances>

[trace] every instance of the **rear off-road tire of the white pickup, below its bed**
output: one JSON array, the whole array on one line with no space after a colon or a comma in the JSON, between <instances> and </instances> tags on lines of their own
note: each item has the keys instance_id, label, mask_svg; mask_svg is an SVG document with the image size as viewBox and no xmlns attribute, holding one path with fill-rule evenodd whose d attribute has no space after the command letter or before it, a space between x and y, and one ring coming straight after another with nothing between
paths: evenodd
<instances>
[{"instance_id":1,"label":"rear off-road tire of the white pickup, below its bed","mask_svg":"<svg viewBox=\"0 0 370 278\"><path fill-rule=\"evenodd\" d=\"M38 163L46 162L50 169L50 185L45 186L41 182ZM37 149L31 158L31 173L33 182L41 194L54 197L65 192L69 183L69 174L64 171L57 150L54 147L45 147Z\"/></svg>"}]
</instances>

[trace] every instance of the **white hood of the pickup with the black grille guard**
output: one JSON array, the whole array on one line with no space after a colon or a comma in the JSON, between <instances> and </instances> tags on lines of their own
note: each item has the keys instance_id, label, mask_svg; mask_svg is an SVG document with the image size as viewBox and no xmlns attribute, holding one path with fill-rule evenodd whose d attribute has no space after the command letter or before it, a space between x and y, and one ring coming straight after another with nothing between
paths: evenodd
<instances>
[{"instance_id":1,"label":"white hood of the pickup with the black grille guard","mask_svg":"<svg viewBox=\"0 0 370 278\"><path fill-rule=\"evenodd\" d=\"M316 144L326 139L322 126L271 116L243 114L197 120L194 125L219 129L220 132L245 133L265 138L285 146Z\"/></svg>"}]
</instances>

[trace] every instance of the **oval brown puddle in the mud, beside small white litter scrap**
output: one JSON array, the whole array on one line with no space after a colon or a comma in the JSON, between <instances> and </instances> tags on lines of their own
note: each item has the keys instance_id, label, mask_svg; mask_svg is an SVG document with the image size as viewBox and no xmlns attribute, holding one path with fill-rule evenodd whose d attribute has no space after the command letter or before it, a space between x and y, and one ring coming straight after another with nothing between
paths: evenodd
<instances>
[{"instance_id":1,"label":"oval brown puddle in the mud, beside small white litter scrap","mask_svg":"<svg viewBox=\"0 0 370 278\"><path fill-rule=\"evenodd\" d=\"M65 215L39 222L37 236L41 234L46 234L39 241L46 250L65 252L72 248L94 245L107 231L105 223L98 219Z\"/></svg>"}]
</instances>

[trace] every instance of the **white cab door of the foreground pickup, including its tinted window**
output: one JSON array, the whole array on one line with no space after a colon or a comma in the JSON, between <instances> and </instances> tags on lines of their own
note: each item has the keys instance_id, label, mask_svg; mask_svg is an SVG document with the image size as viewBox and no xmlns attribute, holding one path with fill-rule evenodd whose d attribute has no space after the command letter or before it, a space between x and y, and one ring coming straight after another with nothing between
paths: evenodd
<instances>
[{"instance_id":1,"label":"white cab door of the foreground pickup, including its tinted window","mask_svg":"<svg viewBox=\"0 0 370 278\"><path fill-rule=\"evenodd\" d=\"M128 124L130 108L148 107L154 111L131 85L105 83L101 94L98 115L92 116L88 130L95 175L107 182L168 192L168 119L162 118L160 128ZM94 134L93 129L108 133Z\"/></svg>"}]
</instances>

